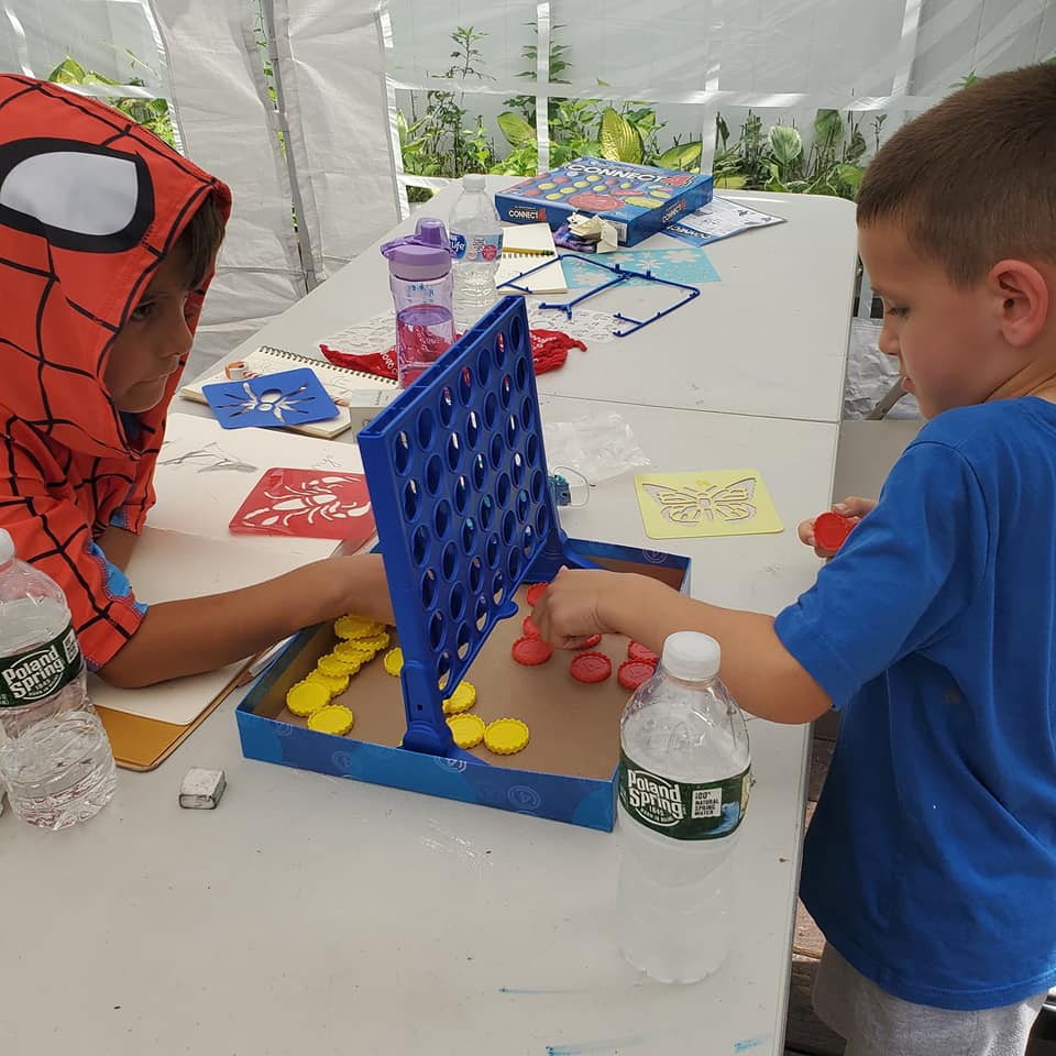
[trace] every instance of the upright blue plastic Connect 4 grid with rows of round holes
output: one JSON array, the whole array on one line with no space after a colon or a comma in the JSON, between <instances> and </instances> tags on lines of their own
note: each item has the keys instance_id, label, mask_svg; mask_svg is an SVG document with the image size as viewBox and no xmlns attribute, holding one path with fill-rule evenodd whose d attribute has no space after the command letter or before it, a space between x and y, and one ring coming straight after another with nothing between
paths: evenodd
<instances>
[{"instance_id":1,"label":"upright blue plastic Connect 4 grid with rows of round holes","mask_svg":"<svg viewBox=\"0 0 1056 1056\"><path fill-rule=\"evenodd\" d=\"M455 747L443 698L525 582L592 568L548 485L522 297L505 297L359 433L396 627L403 747Z\"/></svg>"}]
</instances>

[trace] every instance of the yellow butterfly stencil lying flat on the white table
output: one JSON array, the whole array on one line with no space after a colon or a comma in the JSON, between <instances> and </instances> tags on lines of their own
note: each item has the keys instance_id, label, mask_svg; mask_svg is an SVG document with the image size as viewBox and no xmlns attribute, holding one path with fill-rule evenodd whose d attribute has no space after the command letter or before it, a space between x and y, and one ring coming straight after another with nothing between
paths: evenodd
<instances>
[{"instance_id":1,"label":"yellow butterfly stencil lying flat on the white table","mask_svg":"<svg viewBox=\"0 0 1056 1056\"><path fill-rule=\"evenodd\" d=\"M783 530L758 470L650 473L635 477L635 490L650 539Z\"/></svg>"}]
</instances>

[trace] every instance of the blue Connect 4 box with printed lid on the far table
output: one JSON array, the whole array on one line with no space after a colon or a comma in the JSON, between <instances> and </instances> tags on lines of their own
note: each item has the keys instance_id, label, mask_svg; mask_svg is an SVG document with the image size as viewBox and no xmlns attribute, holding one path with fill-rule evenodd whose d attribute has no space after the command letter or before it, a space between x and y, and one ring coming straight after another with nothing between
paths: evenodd
<instances>
[{"instance_id":1,"label":"blue Connect 4 box with printed lid on the far table","mask_svg":"<svg viewBox=\"0 0 1056 1056\"><path fill-rule=\"evenodd\" d=\"M557 230L573 212L610 220L620 245L635 245L712 200L712 177L649 165L580 157L495 195L513 223L546 221Z\"/></svg>"}]
</instances>

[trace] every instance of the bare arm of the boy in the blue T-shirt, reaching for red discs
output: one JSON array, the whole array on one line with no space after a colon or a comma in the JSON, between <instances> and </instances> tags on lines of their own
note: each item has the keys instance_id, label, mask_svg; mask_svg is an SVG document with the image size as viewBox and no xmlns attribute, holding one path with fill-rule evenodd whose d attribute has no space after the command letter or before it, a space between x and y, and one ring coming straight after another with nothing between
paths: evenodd
<instances>
[{"instance_id":1,"label":"bare arm of the boy in the blue T-shirt, reaching for red discs","mask_svg":"<svg viewBox=\"0 0 1056 1056\"><path fill-rule=\"evenodd\" d=\"M832 707L781 644L772 617L696 602L648 576L562 569L531 618L547 641L563 648L594 634L620 634L660 652L668 635L701 630L722 645L723 681L745 711L809 723Z\"/></svg>"}]
</instances>

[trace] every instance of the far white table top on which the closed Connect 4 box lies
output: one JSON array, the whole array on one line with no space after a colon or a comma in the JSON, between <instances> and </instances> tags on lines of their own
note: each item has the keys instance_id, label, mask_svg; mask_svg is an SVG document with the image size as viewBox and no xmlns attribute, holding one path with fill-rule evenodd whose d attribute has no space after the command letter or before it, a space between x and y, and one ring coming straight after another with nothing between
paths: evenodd
<instances>
[{"instance_id":1,"label":"far white table top on which the closed Connect 4 box lies","mask_svg":"<svg viewBox=\"0 0 1056 1056\"><path fill-rule=\"evenodd\" d=\"M509 183L488 177L488 189ZM419 215L447 218L457 190L446 188ZM854 207L807 195L748 191L726 197L789 222L706 246L722 282L703 285L695 300L635 334L573 353L560 371L539 378L540 393L839 421L857 258ZM414 222L397 230L413 231ZM258 344L318 355L320 339L385 310L392 295L380 244L273 319L231 359ZM636 249L682 245L661 234ZM678 292L619 287L584 307L631 315L640 310L642 318L647 310L673 304L672 294ZM566 298L559 294L552 299ZM564 316L552 315L551 326L560 330Z\"/></svg>"}]
</instances>

